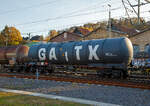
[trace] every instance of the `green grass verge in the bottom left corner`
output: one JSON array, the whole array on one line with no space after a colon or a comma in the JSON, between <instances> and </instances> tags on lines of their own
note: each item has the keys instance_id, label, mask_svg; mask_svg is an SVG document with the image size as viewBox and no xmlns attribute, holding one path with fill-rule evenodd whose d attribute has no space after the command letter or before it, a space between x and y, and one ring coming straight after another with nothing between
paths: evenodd
<instances>
[{"instance_id":1,"label":"green grass verge in the bottom left corner","mask_svg":"<svg viewBox=\"0 0 150 106\"><path fill-rule=\"evenodd\" d=\"M0 106L87 106L35 96L0 92Z\"/></svg>"}]
</instances>

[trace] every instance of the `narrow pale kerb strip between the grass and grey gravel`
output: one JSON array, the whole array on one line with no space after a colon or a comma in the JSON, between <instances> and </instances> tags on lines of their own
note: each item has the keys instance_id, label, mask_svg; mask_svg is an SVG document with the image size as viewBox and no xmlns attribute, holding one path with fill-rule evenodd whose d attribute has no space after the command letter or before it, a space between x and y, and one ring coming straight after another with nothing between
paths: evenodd
<instances>
[{"instance_id":1,"label":"narrow pale kerb strip between the grass and grey gravel","mask_svg":"<svg viewBox=\"0 0 150 106\"><path fill-rule=\"evenodd\" d=\"M49 95L49 94L42 94L42 93L33 93L33 92L27 92L27 91L21 91L21 90L10 90L10 89L0 88L0 91L18 93L18 94L25 94L25 95L30 95L30 96L39 96L39 97L44 97L44 98L49 98L49 99L76 102L76 103L88 104L88 105L94 105L94 106L120 106L120 105L110 104L110 103L102 103L102 102L96 102L96 101L91 101L91 100L64 97L64 96L56 96L56 95Z\"/></svg>"}]
</instances>

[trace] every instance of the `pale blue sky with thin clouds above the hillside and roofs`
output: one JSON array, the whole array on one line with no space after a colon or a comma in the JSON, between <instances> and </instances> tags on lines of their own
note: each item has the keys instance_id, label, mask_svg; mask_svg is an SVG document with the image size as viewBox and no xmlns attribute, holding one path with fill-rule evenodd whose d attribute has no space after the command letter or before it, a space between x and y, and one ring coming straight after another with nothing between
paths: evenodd
<instances>
[{"instance_id":1,"label":"pale blue sky with thin clouds above the hillside and roofs","mask_svg":"<svg viewBox=\"0 0 150 106\"><path fill-rule=\"evenodd\" d=\"M23 36L48 35L49 30L62 30L85 23L127 17L122 0L0 0L0 31L5 25L16 27ZM128 10L131 7L127 4ZM138 0L130 0L136 5ZM145 3L144 0L140 0ZM137 7L135 7L137 10ZM141 17L150 20L150 3L141 6ZM130 16L136 16L132 11Z\"/></svg>"}]
</instances>

